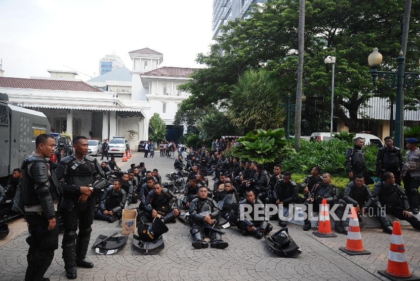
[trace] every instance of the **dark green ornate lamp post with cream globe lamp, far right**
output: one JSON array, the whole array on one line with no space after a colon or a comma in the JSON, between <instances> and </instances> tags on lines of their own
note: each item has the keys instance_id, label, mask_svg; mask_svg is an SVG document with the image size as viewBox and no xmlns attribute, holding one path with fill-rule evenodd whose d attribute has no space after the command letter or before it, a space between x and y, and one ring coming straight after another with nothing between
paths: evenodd
<instances>
[{"instance_id":1,"label":"dark green ornate lamp post with cream globe lamp, far right","mask_svg":"<svg viewBox=\"0 0 420 281\"><path fill-rule=\"evenodd\" d=\"M403 139L402 139L402 123L404 121L404 109L402 108L402 91L403 88L409 87L412 88L414 86L414 80L420 79L420 73L412 73L412 72L403 72L404 66L404 54L402 51L397 58L398 62L398 70L395 71L377 71L377 68L382 63L382 55L378 52L377 48L373 49L373 52L368 57L368 63L371 67L369 73L372 75L372 84L376 83L376 80L379 77L385 79L385 83L387 86L395 87L397 86L397 97L395 100L395 139L394 143L399 147L404 147ZM420 60L419 60L420 64ZM397 83L395 83L397 80Z\"/></svg>"}]
</instances>

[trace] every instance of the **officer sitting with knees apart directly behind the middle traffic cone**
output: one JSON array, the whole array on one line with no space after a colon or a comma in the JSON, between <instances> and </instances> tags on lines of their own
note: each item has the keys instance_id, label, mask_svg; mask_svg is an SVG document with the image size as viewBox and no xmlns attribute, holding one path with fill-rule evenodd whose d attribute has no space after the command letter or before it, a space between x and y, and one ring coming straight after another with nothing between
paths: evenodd
<instances>
[{"instance_id":1,"label":"officer sitting with knees apart directly behind the middle traffic cone","mask_svg":"<svg viewBox=\"0 0 420 281\"><path fill-rule=\"evenodd\" d=\"M346 189L344 190L343 200L347 204L352 204L353 207L356 207L357 217L359 219L359 223L363 223L361 216L365 213L365 211L372 207L376 206L381 208L381 204L379 201L375 200L372 197L372 193L370 192L369 188L365 184L364 176L362 174L357 174L356 179L351 181L347 184ZM341 214L344 212L344 205L340 204L337 208L337 214ZM382 225L383 231L389 234L392 234L392 226L385 214L385 212L379 212L377 214L377 219ZM343 234L347 234L349 228L349 219L343 222Z\"/></svg>"}]
</instances>

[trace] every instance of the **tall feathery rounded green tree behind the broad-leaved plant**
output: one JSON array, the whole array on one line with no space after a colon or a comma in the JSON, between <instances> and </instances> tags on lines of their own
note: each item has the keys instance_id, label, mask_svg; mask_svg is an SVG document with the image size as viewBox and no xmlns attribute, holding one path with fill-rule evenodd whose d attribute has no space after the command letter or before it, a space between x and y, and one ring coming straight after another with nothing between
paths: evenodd
<instances>
[{"instance_id":1,"label":"tall feathery rounded green tree behind the broad-leaved plant","mask_svg":"<svg viewBox=\"0 0 420 281\"><path fill-rule=\"evenodd\" d=\"M244 126L245 131L280 127L284 110L279 107L278 91L278 82L267 71L246 71L233 86L230 96L233 123Z\"/></svg>"}]
</instances>

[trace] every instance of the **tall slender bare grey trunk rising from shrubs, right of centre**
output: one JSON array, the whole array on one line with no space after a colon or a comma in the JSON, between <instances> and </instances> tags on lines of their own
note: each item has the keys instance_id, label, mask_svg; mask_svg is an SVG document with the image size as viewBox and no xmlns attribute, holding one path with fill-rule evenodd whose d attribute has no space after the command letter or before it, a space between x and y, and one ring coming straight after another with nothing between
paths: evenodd
<instances>
[{"instance_id":1,"label":"tall slender bare grey trunk rising from shrubs, right of centre","mask_svg":"<svg viewBox=\"0 0 420 281\"><path fill-rule=\"evenodd\" d=\"M299 62L298 62L298 89L296 91L296 115L295 115L295 149L301 147L301 121L302 121L302 76L303 57L305 45L305 0L299 2Z\"/></svg>"}]
</instances>

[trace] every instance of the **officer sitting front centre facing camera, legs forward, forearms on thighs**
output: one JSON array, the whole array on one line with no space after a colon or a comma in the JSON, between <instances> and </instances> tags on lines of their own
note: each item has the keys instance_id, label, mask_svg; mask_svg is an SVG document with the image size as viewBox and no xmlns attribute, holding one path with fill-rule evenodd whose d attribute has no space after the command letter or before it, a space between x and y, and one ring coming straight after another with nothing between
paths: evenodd
<instances>
[{"instance_id":1,"label":"officer sitting front centre facing camera, legs forward, forearms on thighs","mask_svg":"<svg viewBox=\"0 0 420 281\"><path fill-rule=\"evenodd\" d=\"M217 222L220 218L220 209L216 201L207 198L207 188L201 186L197 191L197 198L189 204L190 209L190 233L194 239L192 247L195 249L204 249L208 247L204 237L209 236L212 243L210 247L225 249L229 246L222 240L221 231Z\"/></svg>"}]
</instances>

